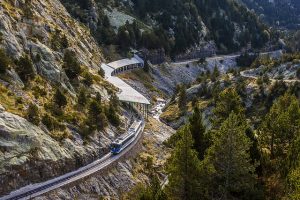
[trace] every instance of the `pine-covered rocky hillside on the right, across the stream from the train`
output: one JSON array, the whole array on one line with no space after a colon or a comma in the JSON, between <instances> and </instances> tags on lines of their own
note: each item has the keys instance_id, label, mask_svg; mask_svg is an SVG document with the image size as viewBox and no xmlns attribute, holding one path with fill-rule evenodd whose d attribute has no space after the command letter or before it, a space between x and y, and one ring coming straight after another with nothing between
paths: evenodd
<instances>
[{"instance_id":1,"label":"pine-covered rocky hillside on the right, across the stream from the train","mask_svg":"<svg viewBox=\"0 0 300 200\"><path fill-rule=\"evenodd\" d=\"M214 70L189 89L178 87L161 118L184 118L185 123L166 143L173 148L166 164L169 184L155 194L165 199L299 198L299 53L258 57L250 65L256 76ZM137 199L149 195L152 186Z\"/></svg>"}]
</instances>

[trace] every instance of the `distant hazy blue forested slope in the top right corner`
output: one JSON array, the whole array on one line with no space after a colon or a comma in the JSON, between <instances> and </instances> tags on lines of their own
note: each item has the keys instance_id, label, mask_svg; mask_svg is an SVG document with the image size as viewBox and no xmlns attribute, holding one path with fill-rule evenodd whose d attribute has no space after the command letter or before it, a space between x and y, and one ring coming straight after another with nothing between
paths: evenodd
<instances>
[{"instance_id":1,"label":"distant hazy blue forested slope in the top right corner","mask_svg":"<svg viewBox=\"0 0 300 200\"><path fill-rule=\"evenodd\" d=\"M300 2L298 0L242 0L242 2L272 26L299 29Z\"/></svg>"}]
</instances>

